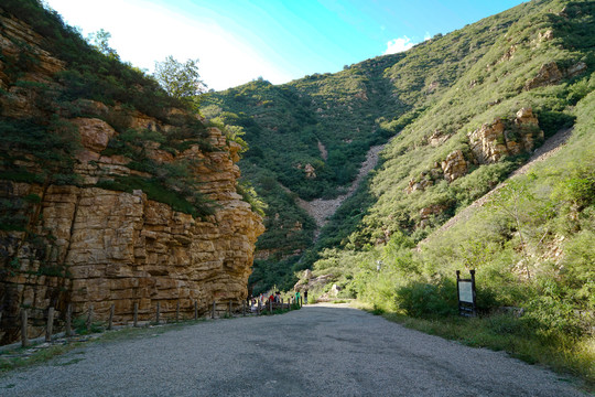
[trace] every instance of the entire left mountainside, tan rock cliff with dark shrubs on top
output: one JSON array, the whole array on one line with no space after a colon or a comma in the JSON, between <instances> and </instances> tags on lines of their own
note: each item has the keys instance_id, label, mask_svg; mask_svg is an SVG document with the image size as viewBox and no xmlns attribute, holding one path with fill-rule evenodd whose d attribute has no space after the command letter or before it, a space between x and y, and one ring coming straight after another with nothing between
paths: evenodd
<instances>
[{"instance_id":1,"label":"entire left mountainside, tan rock cliff with dark shrubs on top","mask_svg":"<svg viewBox=\"0 0 595 397\"><path fill-rule=\"evenodd\" d=\"M247 297L262 219L240 146L36 1L0 4L0 340L94 307L115 321Z\"/></svg>"}]
</instances>

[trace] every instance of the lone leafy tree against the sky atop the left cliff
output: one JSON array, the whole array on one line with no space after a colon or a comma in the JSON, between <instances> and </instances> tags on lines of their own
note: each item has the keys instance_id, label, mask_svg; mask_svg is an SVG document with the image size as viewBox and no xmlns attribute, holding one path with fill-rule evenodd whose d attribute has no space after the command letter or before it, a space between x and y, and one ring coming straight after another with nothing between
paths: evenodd
<instances>
[{"instance_id":1,"label":"lone leafy tree against the sky atop the left cliff","mask_svg":"<svg viewBox=\"0 0 595 397\"><path fill-rule=\"evenodd\" d=\"M153 76L167 94L177 99L194 103L197 95L207 90L198 74L198 60L181 63L170 55L163 62L155 62Z\"/></svg>"}]
</instances>

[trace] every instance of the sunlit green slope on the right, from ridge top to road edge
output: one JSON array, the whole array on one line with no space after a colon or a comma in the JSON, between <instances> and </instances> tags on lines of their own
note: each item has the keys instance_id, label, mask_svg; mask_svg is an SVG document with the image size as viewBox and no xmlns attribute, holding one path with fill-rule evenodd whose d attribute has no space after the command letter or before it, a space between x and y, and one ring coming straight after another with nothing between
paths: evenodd
<instances>
[{"instance_id":1,"label":"sunlit green slope on the right, from ridge top to road edge","mask_svg":"<svg viewBox=\"0 0 595 397\"><path fill-rule=\"evenodd\" d=\"M530 2L483 22L512 12L507 33L387 144L366 189L344 205L365 214L339 208L323 230L304 260L326 285L304 275L296 288L338 290L593 385L595 2ZM515 173L567 127L567 143ZM355 232L345 233L350 219ZM461 321L455 271L470 269L480 318Z\"/></svg>"}]
</instances>

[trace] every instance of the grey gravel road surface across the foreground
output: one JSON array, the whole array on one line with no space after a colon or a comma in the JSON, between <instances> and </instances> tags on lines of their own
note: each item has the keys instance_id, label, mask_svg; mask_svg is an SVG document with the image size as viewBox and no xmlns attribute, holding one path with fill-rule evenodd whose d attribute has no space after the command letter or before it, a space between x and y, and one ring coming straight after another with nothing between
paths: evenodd
<instances>
[{"instance_id":1,"label":"grey gravel road surface across the foreground","mask_svg":"<svg viewBox=\"0 0 595 397\"><path fill-rule=\"evenodd\" d=\"M321 304L88 344L0 377L8 396L585 396L505 353Z\"/></svg>"}]
</instances>

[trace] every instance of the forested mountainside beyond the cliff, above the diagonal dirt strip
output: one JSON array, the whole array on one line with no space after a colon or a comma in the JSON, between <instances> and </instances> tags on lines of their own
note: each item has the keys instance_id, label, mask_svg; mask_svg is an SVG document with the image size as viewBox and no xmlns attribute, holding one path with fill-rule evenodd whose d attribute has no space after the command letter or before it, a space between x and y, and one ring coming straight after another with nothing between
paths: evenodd
<instances>
[{"instance_id":1,"label":"forested mountainside beyond the cliff, above the diagonal dirt strip","mask_svg":"<svg viewBox=\"0 0 595 397\"><path fill-rule=\"evenodd\" d=\"M336 74L207 95L206 115L244 128L245 175L269 203L252 281L289 286L323 248L420 240L506 179L573 124L589 89L592 15L591 1L531 1ZM315 225L282 187L306 201L339 195L389 139L374 179L304 256Z\"/></svg>"}]
</instances>

